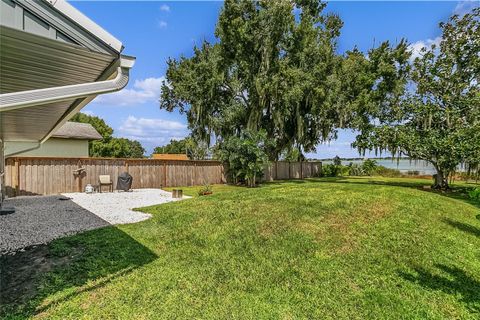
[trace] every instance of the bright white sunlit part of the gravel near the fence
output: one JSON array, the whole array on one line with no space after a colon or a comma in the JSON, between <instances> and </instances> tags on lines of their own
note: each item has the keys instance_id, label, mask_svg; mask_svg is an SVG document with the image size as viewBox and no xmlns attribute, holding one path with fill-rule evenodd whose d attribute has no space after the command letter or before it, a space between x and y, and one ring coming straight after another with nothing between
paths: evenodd
<instances>
[{"instance_id":1,"label":"bright white sunlit part of the gravel near the fence","mask_svg":"<svg viewBox=\"0 0 480 320\"><path fill-rule=\"evenodd\" d=\"M161 189L135 189L129 192L63 193L79 206L87 209L110 224L134 223L152 215L133 211L133 208L162 204L181 199ZM184 196L184 198L187 198Z\"/></svg>"}]
</instances>

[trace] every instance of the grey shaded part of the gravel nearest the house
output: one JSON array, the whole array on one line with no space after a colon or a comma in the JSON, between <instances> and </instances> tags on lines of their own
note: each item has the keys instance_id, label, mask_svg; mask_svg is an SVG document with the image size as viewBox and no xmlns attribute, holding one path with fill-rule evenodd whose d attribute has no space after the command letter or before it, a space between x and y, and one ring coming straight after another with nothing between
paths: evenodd
<instances>
[{"instance_id":1,"label":"grey shaded part of the gravel nearest the house","mask_svg":"<svg viewBox=\"0 0 480 320\"><path fill-rule=\"evenodd\" d=\"M15 207L0 215L0 254L110 224L63 196L25 196L5 200Z\"/></svg>"}]
</instances>

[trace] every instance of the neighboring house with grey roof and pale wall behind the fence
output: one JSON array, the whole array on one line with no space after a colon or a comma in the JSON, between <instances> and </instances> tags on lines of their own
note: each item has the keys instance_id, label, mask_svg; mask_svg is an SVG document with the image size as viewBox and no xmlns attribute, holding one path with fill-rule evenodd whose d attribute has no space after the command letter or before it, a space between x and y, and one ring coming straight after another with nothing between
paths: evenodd
<instances>
[{"instance_id":1,"label":"neighboring house with grey roof and pale wall behind the fence","mask_svg":"<svg viewBox=\"0 0 480 320\"><path fill-rule=\"evenodd\" d=\"M66 122L52 134L52 137L40 145L40 148L18 153L18 157L88 157L88 142L101 140L102 136L89 123ZM22 150L22 142L6 142L5 150Z\"/></svg>"}]
</instances>

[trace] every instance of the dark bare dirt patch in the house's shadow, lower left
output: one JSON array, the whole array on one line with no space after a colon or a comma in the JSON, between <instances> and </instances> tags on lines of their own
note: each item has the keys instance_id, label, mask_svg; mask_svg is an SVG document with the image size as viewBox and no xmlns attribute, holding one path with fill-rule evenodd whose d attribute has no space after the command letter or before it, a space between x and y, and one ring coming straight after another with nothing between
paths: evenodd
<instances>
[{"instance_id":1,"label":"dark bare dirt patch in the house's shadow, lower left","mask_svg":"<svg viewBox=\"0 0 480 320\"><path fill-rule=\"evenodd\" d=\"M66 265L82 252L76 248L68 255L51 254L48 245L32 246L0 256L1 305L22 304L38 290L41 275Z\"/></svg>"}]
</instances>

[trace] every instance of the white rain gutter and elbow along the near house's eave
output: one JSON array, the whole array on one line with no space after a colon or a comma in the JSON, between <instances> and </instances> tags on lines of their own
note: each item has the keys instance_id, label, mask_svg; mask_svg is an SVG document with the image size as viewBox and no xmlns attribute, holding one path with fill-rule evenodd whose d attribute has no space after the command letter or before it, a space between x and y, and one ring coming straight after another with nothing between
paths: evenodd
<instances>
[{"instance_id":1,"label":"white rain gutter and elbow along the near house's eave","mask_svg":"<svg viewBox=\"0 0 480 320\"><path fill-rule=\"evenodd\" d=\"M135 58L121 56L117 76L112 80L0 94L0 112L119 91L127 85L134 63Z\"/></svg>"}]
</instances>

